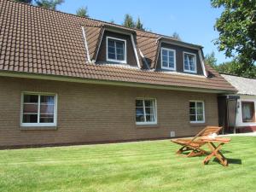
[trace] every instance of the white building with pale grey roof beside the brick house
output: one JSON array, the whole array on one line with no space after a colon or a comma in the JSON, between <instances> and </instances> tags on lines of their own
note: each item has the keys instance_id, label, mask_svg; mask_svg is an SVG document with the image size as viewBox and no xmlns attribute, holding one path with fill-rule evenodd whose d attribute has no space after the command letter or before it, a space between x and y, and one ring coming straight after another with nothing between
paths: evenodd
<instances>
[{"instance_id":1,"label":"white building with pale grey roof beside the brick house","mask_svg":"<svg viewBox=\"0 0 256 192\"><path fill-rule=\"evenodd\" d=\"M256 79L229 74L221 74L221 76L238 90L237 102L234 102L236 105L230 108L230 114L235 120L233 126L239 132L256 131Z\"/></svg>"}]
</instances>

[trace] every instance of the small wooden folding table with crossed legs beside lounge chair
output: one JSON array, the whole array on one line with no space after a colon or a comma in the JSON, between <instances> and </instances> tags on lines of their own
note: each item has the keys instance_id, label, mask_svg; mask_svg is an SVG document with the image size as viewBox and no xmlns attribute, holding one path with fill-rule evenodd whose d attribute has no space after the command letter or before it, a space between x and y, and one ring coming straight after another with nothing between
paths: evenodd
<instances>
[{"instance_id":1,"label":"small wooden folding table with crossed legs beside lounge chair","mask_svg":"<svg viewBox=\"0 0 256 192\"><path fill-rule=\"evenodd\" d=\"M207 146L212 151L211 154L207 155L206 159L203 161L203 164L206 165L209 160L213 157L216 157L223 166L228 166L228 160L220 152L220 149L224 146L225 143L230 143L230 138L223 137L201 137L201 141L207 143ZM214 143L218 143L217 146Z\"/></svg>"}]
</instances>

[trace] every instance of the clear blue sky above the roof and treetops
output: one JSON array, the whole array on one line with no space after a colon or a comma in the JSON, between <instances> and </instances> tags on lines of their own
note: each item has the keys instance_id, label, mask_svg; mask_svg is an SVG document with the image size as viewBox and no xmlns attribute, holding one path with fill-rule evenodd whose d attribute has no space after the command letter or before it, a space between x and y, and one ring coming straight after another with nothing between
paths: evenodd
<instances>
[{"instance_id":1,"label":"clear blue sky above the roof and treetops","mask_svg":"<svg viewBox=\"0 0 256 192\"><path fill-rule=\"evenodd\" d=\"M91 18L114 20L117 24L122 23L126 13L134 19L139 16L152 32L164 35L177 32L183 41L201 44L205 55L213 50L218 63L230 61L212 43L218 38L213 26L222 9L213 9L210 0L65 0L57 9L75 14L82 6L87 6Z\"/></svg>"}]
</instances>

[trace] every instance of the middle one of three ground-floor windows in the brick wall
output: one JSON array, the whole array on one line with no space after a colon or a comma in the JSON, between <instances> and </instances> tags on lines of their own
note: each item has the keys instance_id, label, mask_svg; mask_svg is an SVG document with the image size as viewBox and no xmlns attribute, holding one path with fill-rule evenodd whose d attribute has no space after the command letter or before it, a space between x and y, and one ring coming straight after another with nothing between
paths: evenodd
<instances>
[{"instance_id":1,"label":"middle one of three ground-floor windows in the brick wall","mask_svg":"<svg viewBox=\"0 0 256 192\"><path fill-rule=\"evenodd\" d=\"M136 100L137 125L156 124L155 99Z\"/></svg>"}]
</instances>

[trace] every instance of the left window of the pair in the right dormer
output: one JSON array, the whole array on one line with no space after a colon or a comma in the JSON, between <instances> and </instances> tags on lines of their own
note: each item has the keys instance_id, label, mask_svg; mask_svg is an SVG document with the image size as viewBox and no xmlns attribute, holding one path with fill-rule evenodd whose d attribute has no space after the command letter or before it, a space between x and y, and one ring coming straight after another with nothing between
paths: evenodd
<instances>
[{"instance_id":1,"label":"left window of the pair in the right dormer","mask_svg":"<svg viewBox=\"0 0 256 192\"><path fill-rule=\"evenodd\" d=\"M176 53L173 49L161 48L161 68L176 70Z\"/></svg>"}]
</instances>

